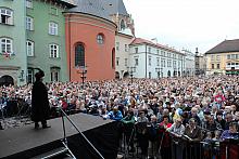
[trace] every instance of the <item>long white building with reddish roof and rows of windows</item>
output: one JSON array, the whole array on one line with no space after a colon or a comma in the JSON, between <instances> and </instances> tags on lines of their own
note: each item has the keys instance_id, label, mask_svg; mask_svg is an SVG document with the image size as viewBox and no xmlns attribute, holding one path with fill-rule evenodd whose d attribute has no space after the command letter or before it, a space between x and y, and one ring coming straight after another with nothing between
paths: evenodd
<instances>
[{"instance_id":1,"label":"long white building with reddish roof and rows of windows","mask_svg":"<svg viewBox=\"0 0 239 159\"><path fill-rule=\"evenodd\" d=\"M185 54L175 49L135 38L129 45L129 75L135 78L177 77L185 71ZM135 68L135 69L134 69Z\"/></svg>"}]
</instances>

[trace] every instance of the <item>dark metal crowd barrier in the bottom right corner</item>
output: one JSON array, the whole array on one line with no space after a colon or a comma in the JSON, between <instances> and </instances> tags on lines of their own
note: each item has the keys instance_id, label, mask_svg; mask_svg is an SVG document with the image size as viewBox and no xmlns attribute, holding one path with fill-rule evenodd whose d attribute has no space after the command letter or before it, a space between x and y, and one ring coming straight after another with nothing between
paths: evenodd
<instances>
[{"instance_id":1,"label":"dark metal crowd barrier in the bottom right corner","mask_svg":"<svg viewBox=\"0 0 239 159\"><path fill-rule=\"evenodd\" d=\"M184 136L172 137L172 159L232 159L239 158L239 141L226 140L191 142Z\"/></svg>"}]
</instances>

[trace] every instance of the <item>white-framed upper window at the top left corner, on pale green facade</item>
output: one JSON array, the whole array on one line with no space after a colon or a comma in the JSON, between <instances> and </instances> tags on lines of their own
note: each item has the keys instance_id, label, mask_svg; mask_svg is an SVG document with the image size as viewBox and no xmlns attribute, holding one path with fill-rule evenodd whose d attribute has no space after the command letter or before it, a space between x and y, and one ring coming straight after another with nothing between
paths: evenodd
<instances>
[{"instance_id":1,"label":"white-framed upper window at the top left corner, on pale green facade","mask_svg":"<svg viewBox=\"0 0 239 159\"><path fill-rule=\"evenodd\" d=\"M1 24L8 24L13 25L13 12L9 9L1 9L0 8L0 23Z\"/></svg>"}]
</instances>

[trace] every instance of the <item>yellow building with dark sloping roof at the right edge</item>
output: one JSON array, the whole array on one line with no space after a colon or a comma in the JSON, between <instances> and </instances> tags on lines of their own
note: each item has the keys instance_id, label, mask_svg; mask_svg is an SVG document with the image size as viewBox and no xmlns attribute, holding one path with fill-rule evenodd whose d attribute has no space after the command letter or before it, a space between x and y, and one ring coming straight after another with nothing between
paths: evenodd
<instances>
[{"instance_id":1,"label":"yellow building with dark sloping roof at the right edge","mask_svg":"<svg viewBox=\"0 0 239 159\"><path fill-rule=\"evenodd\" d=\"M225 40L205 53L206 74L239 75L239 39Z\"/></svg>"}]
</instances>

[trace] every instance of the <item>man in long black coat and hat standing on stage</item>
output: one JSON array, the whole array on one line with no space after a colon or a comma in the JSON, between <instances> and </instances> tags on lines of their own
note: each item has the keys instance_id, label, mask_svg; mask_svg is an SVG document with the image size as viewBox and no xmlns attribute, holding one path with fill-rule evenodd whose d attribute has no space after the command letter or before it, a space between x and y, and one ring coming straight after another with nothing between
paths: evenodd
<instances>
[{"instance_id":1,"label":"man in long black coat and hat standing on stage","mask_svg":"<svg viewBox=\"0 0 239 159\"><path fill-rule=\"evenodd\" d=\"M47 119L50 116L50 106L48 101L48 89L42 83L43 71L39 70L36 75L36 81L32 90L32 120L35 122L35 129L39 128L39 121L42 128L50 128L47 124Z\"/></svg>"}]
</instances>

